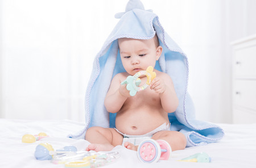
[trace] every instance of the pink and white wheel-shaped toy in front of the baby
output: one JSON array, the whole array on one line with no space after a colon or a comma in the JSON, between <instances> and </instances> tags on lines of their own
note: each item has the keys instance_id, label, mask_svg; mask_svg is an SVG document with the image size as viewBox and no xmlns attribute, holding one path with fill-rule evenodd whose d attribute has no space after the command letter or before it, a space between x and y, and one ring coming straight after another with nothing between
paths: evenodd
<instances>
[{"instance_id":1,"label":"pink and white wheel-shaped toy in front of the baby","mask_svg":"<svg viewBox=\"0 0 256 168\"><path fill-rule=\"evenodd\" d=\"M154 163L159 160L168 160L171 156L171 146L164 140L144 140L138 146L138 158L142 162Z\"/></svg>"}]
</instances>

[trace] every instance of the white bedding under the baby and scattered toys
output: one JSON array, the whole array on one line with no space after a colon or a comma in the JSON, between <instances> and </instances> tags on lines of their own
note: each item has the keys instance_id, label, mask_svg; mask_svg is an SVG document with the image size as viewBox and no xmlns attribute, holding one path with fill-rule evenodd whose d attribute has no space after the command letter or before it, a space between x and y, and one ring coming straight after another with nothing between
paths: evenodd
<instances>
[{"instance_id":1,"label":"white bedding under the baby and scattered toys","mask_svg":"<svg viewBox=\"0 0 256 168\"><path fill-rule=\"evenodd\" d=\"M119 152L117 161L103 167L256 167L256 123L255 124L218 124L225 131L220 141L205 146L196 146L173 152L168 161L142 163L137 153L116 146ZM48 142L53 149L74 145L84 150L89 142L67 138L69 133L80 131L83 123L70 120L11 120L0 119L0 167L65 167L50 161L39 161L34 157L35 148L42 142ZM23 143L25 134L36 135L45 132L51 136L31 144ZM212 159L210 163L179 162L177 160L199 152L206 152Z\"/></svg>"}]
</instances>

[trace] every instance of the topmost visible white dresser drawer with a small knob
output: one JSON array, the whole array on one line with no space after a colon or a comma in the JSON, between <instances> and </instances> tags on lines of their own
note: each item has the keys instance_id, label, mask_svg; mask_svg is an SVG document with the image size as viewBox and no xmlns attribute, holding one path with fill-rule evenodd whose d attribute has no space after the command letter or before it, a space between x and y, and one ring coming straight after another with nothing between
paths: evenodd
<instances>
[{"instance_id":1,"label":"topmost visible white dresser drawer with a small knob","mask_svg":"<svg viewBox=\"0 0 256 168\"><path fill-rule=\"evenodd\" d=\"M234 51L234 77L256 78L256 45Z\"/></svg>"}]
</instances>

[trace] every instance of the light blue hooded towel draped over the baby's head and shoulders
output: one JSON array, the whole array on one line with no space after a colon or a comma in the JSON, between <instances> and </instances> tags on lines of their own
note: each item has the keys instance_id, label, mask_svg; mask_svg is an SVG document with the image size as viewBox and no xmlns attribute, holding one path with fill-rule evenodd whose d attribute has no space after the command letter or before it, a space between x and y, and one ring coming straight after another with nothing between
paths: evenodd
<instances>
[{"instance_id":1,"label":"light blue hooded towel draped over the baby's head and shoulders","mask_svg":"<svg viewBox=\"0 0 256 168\"><path fill-rule=\"evenodd\" d=\"M115 15L120 18L101 51L93 62L93 71L85 96L85 128L71 138L85 138L86 130L98 126L115 127L115 115L106 111L104 99L110 82L115 74L125 72L118 51L117 39L152 39L158 35L163 47L162 55L156 62L155 69L167 73L174 82L179 98L179 106L174 113L168 114L171 131L180 131L187 138L188 146L199 146L216 142L224 136L224 131L212 123L195 119L195 109L189 94L188 60L183 51L164 31L159 18L152 11L144 10L140 1L130 0L126 11Z\"/></svg>"}]
</instances>

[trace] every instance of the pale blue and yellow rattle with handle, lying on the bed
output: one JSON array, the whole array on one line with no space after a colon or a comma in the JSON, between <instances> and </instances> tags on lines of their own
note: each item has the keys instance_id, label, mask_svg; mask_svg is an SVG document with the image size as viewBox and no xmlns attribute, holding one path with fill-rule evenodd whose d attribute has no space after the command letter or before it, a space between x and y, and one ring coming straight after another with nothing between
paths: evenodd
<instances>
[{"instance_id":1,"label":"pale blue and yellow rattle with handle, lying on the bed","mask_svg":"<svg viewBox=\"0 0 256 168\"><path fill-rule=\"evenodd\" d=\"M52 148L52 145L48 143L42 143L36 146L35 150L35 158L38 160L50 160L56 154L64 154L64 153L75 153L77 149L75 146L65 146L63 149L56 150Z\"/></svg>"}]
</instances>

